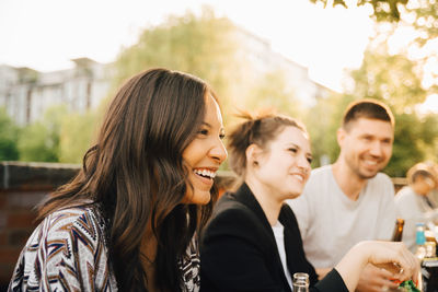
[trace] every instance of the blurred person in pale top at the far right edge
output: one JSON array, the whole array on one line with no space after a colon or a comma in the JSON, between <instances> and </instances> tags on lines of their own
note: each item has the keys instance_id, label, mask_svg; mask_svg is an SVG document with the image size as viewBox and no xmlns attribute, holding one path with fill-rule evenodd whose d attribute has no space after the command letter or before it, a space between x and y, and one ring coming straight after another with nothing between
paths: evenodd
<instances>
[{"instance_id":1,"label":"blurred person in pale top at the far right edge","mask_svg":"<svg viewBox=\"0 0 438 292\"><path fill-rule=\"evenodd\" d=\"M436 188L437 177L430 165L417 163L408 170L406 178L408 185L399 190L394 200L397 218L404 219L403 242L415 253L415 224L438 223L438 209L428 197Z\"/></svg>"}]
</instances>

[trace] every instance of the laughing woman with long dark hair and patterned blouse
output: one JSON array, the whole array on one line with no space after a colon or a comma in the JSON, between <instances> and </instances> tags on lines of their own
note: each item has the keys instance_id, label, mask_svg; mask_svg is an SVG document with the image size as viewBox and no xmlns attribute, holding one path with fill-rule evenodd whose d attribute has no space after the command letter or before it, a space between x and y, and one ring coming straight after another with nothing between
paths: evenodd
<instances>
[{"instance_id":1,"label":"laughing woman with long dark hair and patterned blouse","mask_svg":"<svg viewBox=\"0 0 438 292\"><path fill-rule=\"evenodd\" d=\"M204 81L165 69L132 77L79 174L39 207L9 290L197 291L222 136Z\"/></svg>"}]
</instances>

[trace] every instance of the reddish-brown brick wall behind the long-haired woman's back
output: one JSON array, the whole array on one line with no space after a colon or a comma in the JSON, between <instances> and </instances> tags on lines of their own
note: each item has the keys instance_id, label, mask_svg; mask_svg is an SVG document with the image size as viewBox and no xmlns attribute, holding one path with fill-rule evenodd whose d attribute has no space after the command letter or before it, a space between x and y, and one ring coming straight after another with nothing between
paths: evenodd
<instances>
[{"instance_id":1,"label":"reddish-brown brick wall behind the long-haired woman's back","mask_svg":"<svg viewBox=\"0 0 438 292\"><path fill-rule=\"evenodd\" d=\"M67 183L79 165L0 163L0 291L5 291L20 252L35 225L35 206Z\"/></svg>"}]
</instances>

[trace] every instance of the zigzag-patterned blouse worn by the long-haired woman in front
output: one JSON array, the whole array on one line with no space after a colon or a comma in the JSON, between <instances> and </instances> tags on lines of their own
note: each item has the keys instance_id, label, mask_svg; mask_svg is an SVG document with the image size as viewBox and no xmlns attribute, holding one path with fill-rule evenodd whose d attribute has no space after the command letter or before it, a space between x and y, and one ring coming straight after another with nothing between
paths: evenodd
<instances>
[{"instance_id":1,"label":"zigzag-patterned blouse worn by the long-haired woman in front","mask_svg":"<svg viewBox=\"0 0 438 292\"><path fill-rule=\"evenodd\" d=\"M181 290L199 291L195 237L178 264ZM76 207L47 215L24 246L8 291L117 291L100 213Z\"/></svg>"}]
</instances>

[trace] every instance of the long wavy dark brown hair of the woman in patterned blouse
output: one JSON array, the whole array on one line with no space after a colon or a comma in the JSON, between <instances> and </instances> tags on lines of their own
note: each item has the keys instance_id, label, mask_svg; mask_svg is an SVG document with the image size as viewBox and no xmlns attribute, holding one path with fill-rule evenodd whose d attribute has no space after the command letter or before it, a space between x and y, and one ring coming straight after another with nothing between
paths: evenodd
<instances>
[{"instance_id":1,"label":"long wavy dark brown hair of the woman in patterned blouse","mask_svg":"<svg viewBox=\"0 0 438 292\"><path fill-rule=\"evenodd\" d=\"M217 199L215 188L207 206L182 203L191 187L182 155L204 119L207 93L215 97L204 81L182 72L132 77L111 102L79 174L39 208L41 219L66 207L99 206L122 291L147 291L140 244L148 222L158 241L154 282L180 291L177 260Z\"/></svg>"}]
</instances>

